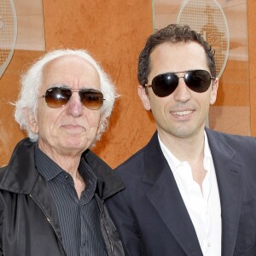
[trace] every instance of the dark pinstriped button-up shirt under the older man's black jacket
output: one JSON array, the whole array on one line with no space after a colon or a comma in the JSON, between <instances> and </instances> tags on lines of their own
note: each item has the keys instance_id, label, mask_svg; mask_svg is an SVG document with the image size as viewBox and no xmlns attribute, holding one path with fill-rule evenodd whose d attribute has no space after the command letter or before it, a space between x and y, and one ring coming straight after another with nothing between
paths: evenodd
<instances>
[{"instance_id":1,"label":"dark pinstriped button-up shirt under the older man's black jacket","mask_svg":"<svg viewBox=\"0 0 256 256\"><path fill-rule=\"evenodd\" d=\"M107 256L102 238L99 209L95 191L96 176L82 158L79 174L86 187L80 199L74 188L73 177L61 169L42 150L35 149L38 172L49 185L61 226L62 244L68 256Z\"/></svg>"}]
</instances>

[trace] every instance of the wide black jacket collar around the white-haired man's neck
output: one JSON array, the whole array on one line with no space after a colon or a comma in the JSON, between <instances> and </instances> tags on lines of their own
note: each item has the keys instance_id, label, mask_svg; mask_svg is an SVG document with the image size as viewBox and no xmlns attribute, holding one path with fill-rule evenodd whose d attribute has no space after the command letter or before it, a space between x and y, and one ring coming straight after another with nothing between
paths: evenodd
<instances>
[{"instance_id":1,"label":"wide black jacket collar around the white-haired man's neck","mask_svg":"<svg viewBox=\"0 0 256 256\"><path fill-rule=\"evenodd\" d=\"M38 179L35 168L36 143L29 138L20 141L9 160L9 165L3 168L3 179L0 189L9 190L20 194L30 194ZM96 154L87 149L83 156L98 179L97 193L102 199L108 198L121 189L125 189L117 174Z\"/></svg>"}]
</instances>

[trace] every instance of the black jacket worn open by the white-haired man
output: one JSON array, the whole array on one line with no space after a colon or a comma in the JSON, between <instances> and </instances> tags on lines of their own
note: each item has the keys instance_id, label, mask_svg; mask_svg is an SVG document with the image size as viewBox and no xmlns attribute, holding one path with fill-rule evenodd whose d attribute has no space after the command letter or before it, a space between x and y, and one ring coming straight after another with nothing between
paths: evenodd
<instances>
[{"instance_id":1,"label":"black jacket worn open by the white-haired man","mask_svg":"<svg viewBox=\"0 0 256 256\"><path fill-rule=\"evenodd\" d=\"M9 165L0 169L0 255L66 255L55 203L44 177L35 168L34 147L28 138L22 140ZM124 185L96 154L87 150L83 157L97 177L96 201L108 255L125 255L104 204Z\"/></svg>"}]
</instances>

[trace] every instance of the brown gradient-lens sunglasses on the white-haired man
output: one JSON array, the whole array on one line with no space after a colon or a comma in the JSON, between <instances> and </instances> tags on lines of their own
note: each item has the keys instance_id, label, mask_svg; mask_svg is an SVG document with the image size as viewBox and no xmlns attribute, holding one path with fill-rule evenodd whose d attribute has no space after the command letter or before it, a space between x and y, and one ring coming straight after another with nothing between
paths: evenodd
<instances>
[{"instance_id":1,"label":"brown gradient-lens sunglasses on the white-haired man","mask_svg":"<svg viewBox=\"0 0 256 256\"><path fill-rule=\"evenodd\" d=\"M84 107L96 110L102 108L103 95L102 92L95 89L69 89L65 87L52 87L45 91L44 100L49 108L61 108L70 100L73 91L79 93L80 101Z\"/></svg>"}]
</instances>

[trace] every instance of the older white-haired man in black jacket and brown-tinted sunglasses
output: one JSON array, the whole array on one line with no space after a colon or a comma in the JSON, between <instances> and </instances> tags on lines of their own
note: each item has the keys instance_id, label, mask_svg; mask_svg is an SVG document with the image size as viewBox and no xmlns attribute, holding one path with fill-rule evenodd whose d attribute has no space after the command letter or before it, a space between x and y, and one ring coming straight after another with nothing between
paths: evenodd
<instances>
[{"instance_id":1,"label":"older white-haired man in black jacket and brown-tinted sunglasses","mask_svg":"<svg viewBox=\"0 0 256 256\"><path fill-rule=\"evenodd\" d=\"M104 201L123 188L90 151L115 89L84 50L55 50L22 76L15 119L28 138L0 170L0 254L123 255Z\"/></svg>"}]
</instances>

